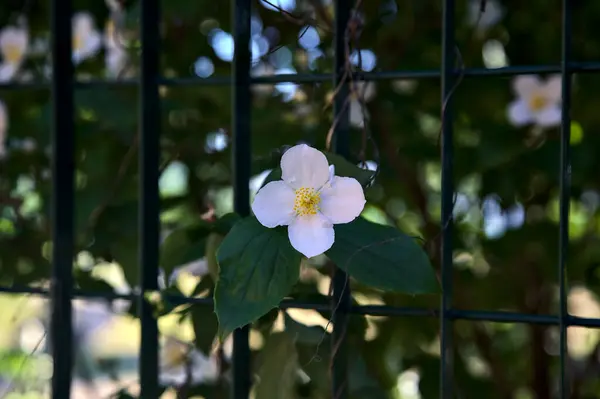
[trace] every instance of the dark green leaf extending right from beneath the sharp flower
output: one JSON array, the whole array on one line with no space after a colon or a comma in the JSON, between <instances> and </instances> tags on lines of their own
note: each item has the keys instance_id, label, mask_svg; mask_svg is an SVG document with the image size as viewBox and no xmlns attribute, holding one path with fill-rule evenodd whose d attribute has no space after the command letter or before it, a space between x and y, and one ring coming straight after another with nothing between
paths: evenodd
<instances>
[{"instance_id":1,"label":"dark green leaf extending right from beneath the sharp flower","mask_svg":"<svg viewBox=\"0 0 600 399\"><path fill-rule=\"evenodd\" d=\"M390 226L357 218L335 226L327 256L361 283L407 294L438 292L429 258L417 241Z\"/></svg>"}]
</instances>

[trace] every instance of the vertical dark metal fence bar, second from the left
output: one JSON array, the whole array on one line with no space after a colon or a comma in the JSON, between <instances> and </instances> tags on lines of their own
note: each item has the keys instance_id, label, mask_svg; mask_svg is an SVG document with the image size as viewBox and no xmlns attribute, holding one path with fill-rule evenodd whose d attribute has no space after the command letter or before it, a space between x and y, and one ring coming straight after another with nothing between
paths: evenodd
<instances>
[{"instance_id":1,"label":"vertical dark metal fence bar, second from the left","mask_svg":"<svg viewBox=\"0 0 600 399\"><path fill-rule=\"evenodd\" d=\"M141 292L139 297L141 347L140 347L140 397L158 397L158 325L152 305L146 300L148 292L158 290L159 255L159 140L160 97L159 0L143 0L141 10L141 79L140 79L140 156L139 156L139 272Z\"/></svg>"}]
</instances>

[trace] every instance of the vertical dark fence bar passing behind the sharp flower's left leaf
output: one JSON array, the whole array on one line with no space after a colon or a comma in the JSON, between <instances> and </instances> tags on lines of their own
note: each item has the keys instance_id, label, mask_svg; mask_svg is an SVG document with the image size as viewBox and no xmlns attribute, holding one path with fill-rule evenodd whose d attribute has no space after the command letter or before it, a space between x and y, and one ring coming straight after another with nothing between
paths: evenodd
<instances>
[{"instance_id":1,"label":"vertical dark fence bar passing behind the sharp flower's left leaf","mask_svg":"<svg viewBox=\"0 0 600 399\"><path fill-rule=\"evenodd\" d=\"M232 10L233 39L233 110L232 169L233 207L241 216L250 214L250 1L235 0ZM233 390L235 399L250 395L249 327L233 332Z\"/></svg>"}]
</instances>

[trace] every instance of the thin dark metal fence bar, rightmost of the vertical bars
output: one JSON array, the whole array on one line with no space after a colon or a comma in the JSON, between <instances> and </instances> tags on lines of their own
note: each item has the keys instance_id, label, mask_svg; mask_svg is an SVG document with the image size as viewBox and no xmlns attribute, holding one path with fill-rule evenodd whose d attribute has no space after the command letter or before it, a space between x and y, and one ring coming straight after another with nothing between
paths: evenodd
<instances>
[{"instance_id":1,"label":"thin dark metal fence bar, rightmost of the vertical bars","mask_svg":"<svg viewBox=\"0 0 600 399\"><path fill-rule=\"evenodd\" d=\"M559 225L559 255L558 255L558 285L560 295L560 388L561 398L570 396L570 384L565 370L567 356L567 287L566 267L569 246L569 202L571 197L571 1L562 2L562 116L560 134L560 225Z\"/></svg>"}]
</instances>

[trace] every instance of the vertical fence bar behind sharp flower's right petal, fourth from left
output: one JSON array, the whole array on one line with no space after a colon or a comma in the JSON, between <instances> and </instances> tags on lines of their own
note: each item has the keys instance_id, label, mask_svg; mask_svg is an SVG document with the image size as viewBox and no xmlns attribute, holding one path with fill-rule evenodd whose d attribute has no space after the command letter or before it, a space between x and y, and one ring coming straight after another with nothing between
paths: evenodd
<instances>
[{"instance_id":1,"label":"vertical fence bar behind sharp flower's right petal, fourth from left","mask_svg":"<svg viewBox=\"0 0 600 399\"><path fill-rule=\"evenodd\" d=\"M350 155L349 143L349 112L346 100L350 94L348 77L345 74L349 38L346 27L353 7L352 0L337 0L335 7L335 65L333 84L337 88L333 101L333 117L335 131L333 149L343 157ZM348 397L348 351L346 348L346 329L348 325L348 308L351 304L348 275L341 269L335 268L333 274L332 305L337 308L333 314L333 334L331 348L331 383L332 397L343 399ZM339 305L338 305L339 304Z\"/></svg>"}]
</instances>

